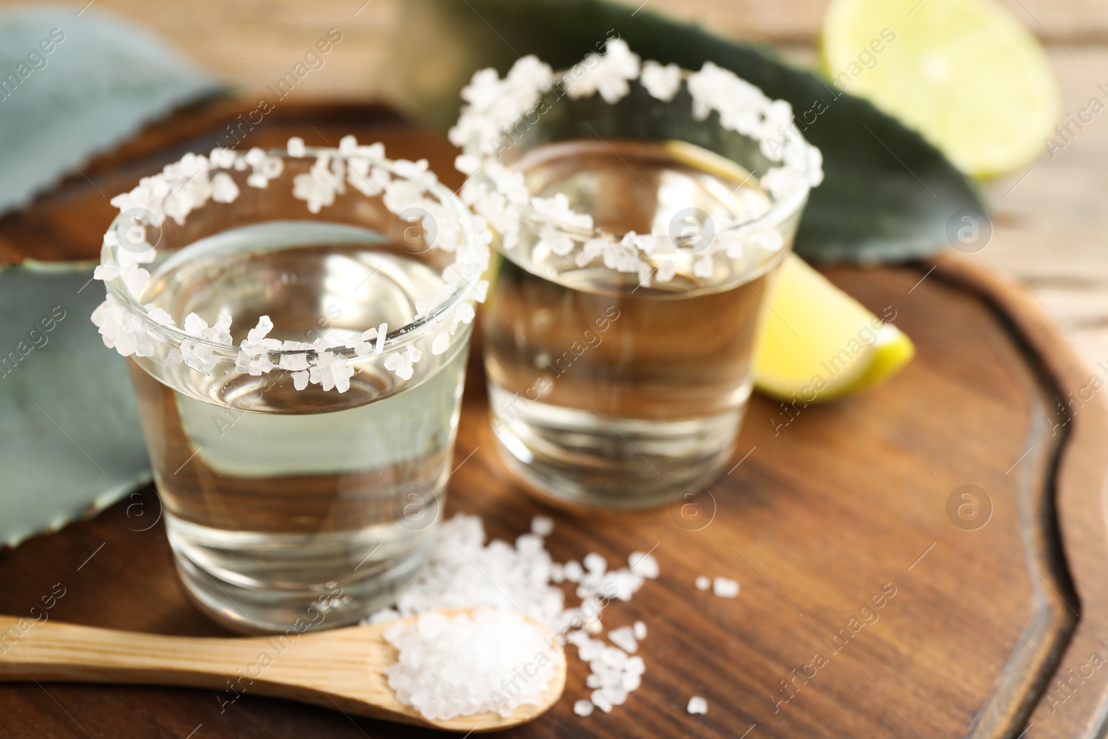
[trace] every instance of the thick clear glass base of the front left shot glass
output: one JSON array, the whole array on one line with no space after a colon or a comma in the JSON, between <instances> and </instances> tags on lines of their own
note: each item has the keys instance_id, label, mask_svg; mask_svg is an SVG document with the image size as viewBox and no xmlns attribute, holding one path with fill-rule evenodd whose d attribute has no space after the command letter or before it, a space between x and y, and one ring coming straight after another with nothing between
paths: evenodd
<instances>
[{"instance_id":1,"label":"thick clear glass base of the front left shot glass","mask_svg":"<svg viewBox=\"0 0 1108 739\"><path fill-rule=\"evenodd\" d=\"M365 619L416 581L437 528L242 533L166 513L186 592L205 614L242 634L305 633Z\"/></svg>"}]
</instances>

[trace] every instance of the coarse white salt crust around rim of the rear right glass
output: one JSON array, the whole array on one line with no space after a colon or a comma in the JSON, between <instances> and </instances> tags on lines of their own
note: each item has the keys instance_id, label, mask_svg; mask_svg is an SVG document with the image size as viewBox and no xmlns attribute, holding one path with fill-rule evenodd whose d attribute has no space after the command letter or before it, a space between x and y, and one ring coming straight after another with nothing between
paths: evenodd
<instances>
[{"instance_id":1,"label":"coarse white salt crust around rim of the rear right glass","mask_svg":"<svg viewBox=\"0 0 1108 739\"><path fill-rule=\"evenodd\" d=\"M458 168L469 176L461 188L461 197L500 233L501 244L506 250L513 249L520 242L523 212L519 206L530 205L540 216L560 224L574 223L572 212L550 213L554 198L531 196L522 173L511 172L495 161L500 157L501 146L510 145L506 144L509 132L538 110L536 104L552 85L551 78L546 76L548 74L550 68L535 57L517 60L503 80L491 68L474 73L470 84L462 90L462 99L468 104L450 130L451 142L466 146L466 153L455 160ZM638 55L625 41L613 38L606 41L605 53L587 54L558 81L572 99L599 93L606 103L615 104L630 92L629 82L636 78L653 97L667 102L676 97L683 79L687 79L686 88L693 99L695 120L704 121L714 111L718 112L720 126L753 138L767 158L783 164L771 168L763 182L776 201L815 187L823 181L822 154L801 136L792 106L787 101L769 99L756 85L712 62L706 62L699 71L688 73L676 64L664 66L656 61L639 63ZM768 209L769 203L765 211ZM762 213L746 213L738 223L753 222ZM772 236L777 232L774 227L763 226L762 229L770 235L771 243L780 238L780 234ZM578 240L584 242L583 247L573 254ZM601 245L597 242L606 243ZM544 258L545 252L550 250L557 256L572 255L574 263L583 268L603 255L605 267L620 273L637 273L639 285L648 286L652 277L653 281L667 283L676 276L673 263L654 265L637 253L654 254L658 242L673 245L669 238L644 238L634 233L626 234L619 244L608 239L578 239L561 233L547 222L541 224L533 258ZM739 249L731 242L732 238L720 234L694 265L694 274L701 278L710 277L717 253L726 252L732 259L740 256L732 254ZM767 250L772 253L774 249L770 246Z\"/></svg>"}]
</instances>

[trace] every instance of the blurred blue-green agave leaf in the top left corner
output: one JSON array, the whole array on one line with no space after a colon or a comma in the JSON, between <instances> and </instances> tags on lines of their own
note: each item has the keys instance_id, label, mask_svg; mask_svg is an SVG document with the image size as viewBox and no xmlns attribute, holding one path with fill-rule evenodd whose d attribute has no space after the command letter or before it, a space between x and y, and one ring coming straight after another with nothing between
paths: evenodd
<instances>
[{"instance_id":1,"label":"blurred blue-green agave leaf in the top left corner","mask_svg":"<svg viewBox=\"0 0 1108 739\"><path fill-rule=\"evenodd\" d=\"M0 11L0 214L220 89L146 29L47 3Z\"/></svg>"}]
</instances>

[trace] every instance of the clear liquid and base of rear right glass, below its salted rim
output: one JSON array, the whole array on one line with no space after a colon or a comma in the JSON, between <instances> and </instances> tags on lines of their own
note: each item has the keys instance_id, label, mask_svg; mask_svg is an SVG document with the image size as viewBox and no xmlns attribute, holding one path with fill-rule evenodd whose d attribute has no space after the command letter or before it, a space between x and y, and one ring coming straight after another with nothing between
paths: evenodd
<instances>
[{"instance_id":1,"label":"clear liquid and base of rear right glass, below its salted rim","mask_svg":"<svg viewBox=\"0 0 1108 739\"><path fill-rule=\"evenodd\" d=\"M617 237L668 229L690 207L724 223L770 206L757 177L687 144L563 142L513 166L533 195L563 193ZM483 310L493 430L541 496L657 505L707 485L730 458L779 259L717 255L698 277L695 255L669 258L674 279L640 286L599 259L582 268L526 243L499 255Z\"/></svg>"}]
</instances>

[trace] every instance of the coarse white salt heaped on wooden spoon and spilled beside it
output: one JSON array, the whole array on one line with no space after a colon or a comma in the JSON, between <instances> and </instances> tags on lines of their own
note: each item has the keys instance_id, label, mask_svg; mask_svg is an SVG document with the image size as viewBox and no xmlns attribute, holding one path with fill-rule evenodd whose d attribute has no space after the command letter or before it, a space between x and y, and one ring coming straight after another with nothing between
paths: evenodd
<instances>
[{"instance_id":1,"label":"coarse white salt heaped on wooden spoon and spilled beside it","mask_svg":"<svg viewBox=\"0 0 1108 739\"><path fill-rule=\"evenodd\" d=\"M576 646L577 656L589 664L591 675L586 685L593 688L592 702L585 701L589 708L584 708L582 701L577 701L574 712L587 716L592 706L611 711L613 706L623 705L627 695L642 682L646 665L642 657L630 654L646 637L646 624L636 622L630 628L613 629L609 639L616 646L588 635L603 632L601 613L612 601L630 601L646 578L658 576L658 562L650 553L635 552L628 557L627 567L608 569L604 557L592 552L582 560L584 566L578 562L560 564L553 562L543 545L543 537L550 535L553 528L551 519L535 516L531 533L517 537L514 547L499 540L485 544L481 519L458 514L442 525L428 566L416 584L400 596L394 608L378 612L369 620L380 623L417 614L425 614L425 618L431 615L427 612L431 610L492 607L526 624L520 616L525 614L547 625L567 644ZM575 594L581 598L578 605L565 606L565 595L558 587L565 582L576 585ZM441 714L451 711L463 711L453 716L483 710L511 712L515 706L535 699L535 679L525 686L527 690L512 688L514 667L522 667L527 660L538 661L536 655L540 650L529 651L524 639L511 639L513 651L497 653L495 659L500 661L495 665L484 658L479 659L473 653L466 653L469 656L463 659L461 653L449 651L428 663L430 646L409 630L401 630L402 625L396 628L398 630L392 636L406 639L409 657L407 666L403 656L401 663L394 666L397 684L393 685L393 673L390 673L390 685L397 690L398 698L410 701L424 716L443 718ZM443 648L447 648L448 640L462 640L458 635L465 629L469 630L464 640L470 642L474 649L501 639L497 629L483 628L480 624L455 627L453 622L443 624L435 618L425 630L433 634L432 642L438 639ZM389 638L389 633L386 636ZM391 638L390 642L400 648L400 644ZM503 646L507 649L510 645L503 643ZM442 667L447 663L451 665L449 669ZM509 674L503 674L504 669L509 669ZM495 680L492 680L493 677ZM449 679L439 685L440 678ZM501 680L504 685L500 685ZM463 698L460 692L454 692L463 684L468 688L480 684L489 687L486 692L497 695L489 699L488 695L472 691L473 695ZM494 690L494 687L497 689ZM401 690L404 691L403 697ZM538 690L537 695L541 696L542 691Z\"/></svg>"}]
</instances>

